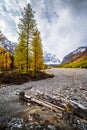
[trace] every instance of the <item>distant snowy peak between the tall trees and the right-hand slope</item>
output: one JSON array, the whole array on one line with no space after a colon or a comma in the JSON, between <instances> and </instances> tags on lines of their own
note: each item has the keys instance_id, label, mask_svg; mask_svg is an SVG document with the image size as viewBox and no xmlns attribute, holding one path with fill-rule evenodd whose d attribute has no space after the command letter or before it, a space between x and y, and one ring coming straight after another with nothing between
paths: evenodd
<instances>
[{"instance_id":1,"label":"distant snowy peak between the tall trees and the right-hand slope","mask_svg":"<svg viewBox=\"0 0 87 130\"><path fill-rule=\"evenodd\" d=\"M44 63L46 65L58 65L60 64L59 58L56 57L56 55L48 52L44 52Z\"/></svg>"}]
</instances>

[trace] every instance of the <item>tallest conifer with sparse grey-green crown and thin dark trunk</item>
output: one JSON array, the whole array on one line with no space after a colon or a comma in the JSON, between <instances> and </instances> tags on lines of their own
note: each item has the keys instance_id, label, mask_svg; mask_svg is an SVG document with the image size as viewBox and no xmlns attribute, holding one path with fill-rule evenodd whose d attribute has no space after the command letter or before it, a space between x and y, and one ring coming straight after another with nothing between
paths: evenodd
<instances>
[{"instance_id":1,"label":"tallest conifer with sparse grey-green crown and thin dark trunk","mask_svg":"<svg viewBox=\"0 0 87 130\"><path fill-rule=\"evenodd\" d=\"M29 49L32 40L33 33L36 29L36 20L34 19L34 12L31 8L31 5L28 4L24 11L22 12L22 17L20 19L19 27L19 38L21 34L25 34L26 41L26 71L28 71L29 67Z\"/></svg>"}]
</instances>

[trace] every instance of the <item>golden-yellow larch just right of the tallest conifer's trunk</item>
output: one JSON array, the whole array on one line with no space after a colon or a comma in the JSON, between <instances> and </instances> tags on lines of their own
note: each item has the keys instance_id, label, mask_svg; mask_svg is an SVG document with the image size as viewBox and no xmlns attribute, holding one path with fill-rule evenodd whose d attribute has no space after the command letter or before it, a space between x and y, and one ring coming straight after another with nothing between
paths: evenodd
<instances>
[{"instance_id":1,"label":"golden-yellow larch just right of the tallest conifer's trunk","mask_svg":"<svg viewBox=\"0 0 87 130\"><path fill-rule=\"evenodd\" d=\"M37 76L37 72L43 69L43 51L40 33L37 30L34 33L34 38L32 40L32 52L33 52L33 63L34 63L34 76Z\"/></svg>"}]
</instances>

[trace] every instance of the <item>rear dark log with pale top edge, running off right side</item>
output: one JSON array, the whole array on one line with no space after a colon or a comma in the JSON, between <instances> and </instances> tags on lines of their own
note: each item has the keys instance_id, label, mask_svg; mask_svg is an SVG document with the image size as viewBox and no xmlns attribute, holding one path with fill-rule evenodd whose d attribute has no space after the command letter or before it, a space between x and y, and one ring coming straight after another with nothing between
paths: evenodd
<instances>
[{"instance_id":1,"label":"rear dark log with pale top edge, running off right side","mask_svg":"<svg viewBox=\"0 0 87 130\"><path fill-rule=\"evenodd\" d=\"M65 109L65 110L67 108L67 104L69 104L70 108L68 108L68 109L70 109L70 111L73 112L74 116L77 116L80 119L87 120L87 107L84 107L82 104L79 104L72 100L66 100L66 99L63 99L60 97L58 98L58 97L52 96L52 95L44 95L44 94L41 95L40 93L38 93L38 96L42 99L48 100L49 102Z\"/></svg>"}]
</instances>

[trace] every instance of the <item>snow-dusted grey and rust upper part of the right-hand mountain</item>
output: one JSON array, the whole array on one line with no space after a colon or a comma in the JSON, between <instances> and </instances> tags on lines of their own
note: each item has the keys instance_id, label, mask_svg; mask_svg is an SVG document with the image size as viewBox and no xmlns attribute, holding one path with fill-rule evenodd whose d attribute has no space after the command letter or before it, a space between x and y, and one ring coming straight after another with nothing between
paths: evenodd
<instances>
[{"instance_id":1,"label":"snow-dusted grey and rust upper part of the right-hand mountain","mask_svg":"<svg viewBox=\"0 0 87 130\"><path fill-rule=\"evenodd\" d=\"M83 56L87 56L87 47L79 47L78 49L72 51L68 55L63 58L62 63L72 62L81 58Z\"/></svg>"}]
</instances>

